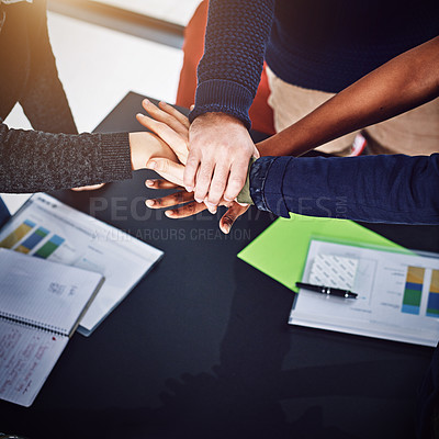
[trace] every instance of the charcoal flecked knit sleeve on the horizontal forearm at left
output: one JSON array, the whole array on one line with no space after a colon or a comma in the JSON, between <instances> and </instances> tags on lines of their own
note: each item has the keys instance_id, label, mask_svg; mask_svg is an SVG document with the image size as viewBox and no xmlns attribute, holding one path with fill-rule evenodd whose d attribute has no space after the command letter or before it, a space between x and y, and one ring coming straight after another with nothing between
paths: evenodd
<instances>
[{"instance_id":1,"label":"charcoal flecked knit sleeve on the horizontal forearm at left","mask_svg":"<svg viewBox=\"0 0 439 439\"><path fill-rule=\"evenodd\" d=\"M49 134L0 125L0 192L37 192L132 177L128 134Z\"/></svg>"}]
</instances>

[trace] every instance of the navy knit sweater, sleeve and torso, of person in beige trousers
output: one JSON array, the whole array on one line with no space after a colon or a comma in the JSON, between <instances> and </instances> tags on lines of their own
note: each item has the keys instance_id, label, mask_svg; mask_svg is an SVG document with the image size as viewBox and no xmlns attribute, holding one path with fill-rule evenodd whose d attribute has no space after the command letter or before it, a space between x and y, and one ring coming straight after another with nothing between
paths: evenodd
<instances>
[{"instance_id":1,"label":"navy knit sweater, sleeve and torso, of person in beige trousers","mask_svg":"<svg viewBox=\"0 0 439 439\"><path fill-rule=\"evenodd\" d=\"M263 59L282 80L337 93L439 34L438 0L210 0L193 121L250 126Z\"/></svg>"}]
</instances>

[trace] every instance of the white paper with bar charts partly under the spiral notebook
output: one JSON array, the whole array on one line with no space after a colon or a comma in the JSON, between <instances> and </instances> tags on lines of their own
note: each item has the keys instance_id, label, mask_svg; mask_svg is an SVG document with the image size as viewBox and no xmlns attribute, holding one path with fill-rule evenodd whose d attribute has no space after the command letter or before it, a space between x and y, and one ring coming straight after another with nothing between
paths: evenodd
<instances>
[{"instance_id":1,"label":"white paper with bar charts partly under the spiral notebook","mask_svg":"<svg viewBox=\"0 0 439 439\"><path fill-rule=\"evenodd\" d=\"M0 247L102 274L79 331L91 334L164 252L58 200L34 194L0 230Z\"/></svg>"}]
</instances>

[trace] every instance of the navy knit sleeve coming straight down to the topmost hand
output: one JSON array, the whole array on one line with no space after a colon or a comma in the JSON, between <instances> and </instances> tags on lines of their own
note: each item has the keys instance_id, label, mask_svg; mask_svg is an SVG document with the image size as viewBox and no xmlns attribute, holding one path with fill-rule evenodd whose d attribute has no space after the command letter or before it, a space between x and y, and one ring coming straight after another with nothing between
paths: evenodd
<instances>
[{"instance_id":1,"label":"navy knit sleeve coming straight down to the topmost hand","mask_svg":"<svg viewBox=\"0 0 439 439\"><path fill-rule=\"evenodd\" d=\"M251 125L248 111L262 72L274 0L211 0L195 108L189 119L223 112Z\"/></svg>"}]
</instances>

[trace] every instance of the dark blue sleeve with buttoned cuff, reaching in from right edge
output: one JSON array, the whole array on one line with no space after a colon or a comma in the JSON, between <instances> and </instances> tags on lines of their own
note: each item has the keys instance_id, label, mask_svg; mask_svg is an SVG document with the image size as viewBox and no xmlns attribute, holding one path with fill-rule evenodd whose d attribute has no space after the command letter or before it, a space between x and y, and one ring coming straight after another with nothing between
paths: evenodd
<instances>
[{"instance_id":1,"label":"dark blue sleeve with buttoned cuff, reaching in from right edge","mask_svg":"<svg viewBox=\"0 0 439 439\"><path fill-rule=\"evenodd\" d=\"M250 170L258 209L369 223L439 224L439 154L262 157Z\"/></svg>"}]
</instances>

